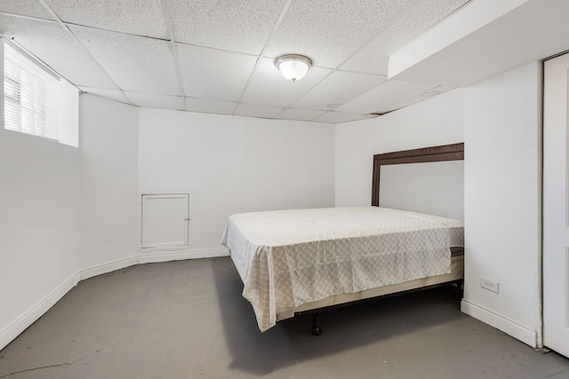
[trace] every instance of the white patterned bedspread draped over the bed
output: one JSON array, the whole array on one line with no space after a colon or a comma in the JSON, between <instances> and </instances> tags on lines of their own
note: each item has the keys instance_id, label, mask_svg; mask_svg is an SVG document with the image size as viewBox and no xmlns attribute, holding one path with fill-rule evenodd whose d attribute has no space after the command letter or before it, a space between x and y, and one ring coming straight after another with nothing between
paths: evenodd
<instances>
[{"instance_id":1,"label":"white patterned bedspread draped over the bed","mask_svg":"<svg viewBox=\"0 0 569 379\"><path fill-rule=\"evenodd\" d=\"M261 331L276 310L450 272L461 221L378 207L236 214L221 243Z\"/></svg>"}]
</instances>

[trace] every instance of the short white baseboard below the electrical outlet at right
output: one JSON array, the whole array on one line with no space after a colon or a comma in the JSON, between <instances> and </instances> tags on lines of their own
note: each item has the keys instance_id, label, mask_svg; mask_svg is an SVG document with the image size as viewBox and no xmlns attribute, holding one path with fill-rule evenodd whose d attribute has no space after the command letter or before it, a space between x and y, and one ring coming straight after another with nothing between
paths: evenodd
<instances>
[{"instance_id":1,"label":"short white baseboard below the electrical outlet at right","mask_svg":"<svg viewBox=\"0 0 569 379\"><path fill-rule=\"evenodd\" d=\"M513 336L517 340L529 344L533 348L537 347L537 332L532 329L525 328L523 325L515 321L509 320L496 312L489 311L480 305L470 303L468 300L462 299L461 312L481 320L493 328L497 328L502 332Z\"/></svg>"}]
</instances>

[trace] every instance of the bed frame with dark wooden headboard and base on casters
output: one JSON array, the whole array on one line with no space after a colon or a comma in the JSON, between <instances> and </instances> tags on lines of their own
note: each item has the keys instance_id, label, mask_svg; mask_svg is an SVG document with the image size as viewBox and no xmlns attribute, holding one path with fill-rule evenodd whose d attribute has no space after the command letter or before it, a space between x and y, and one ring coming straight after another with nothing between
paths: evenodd
<instances>
[{"instance_id":1,"label":"bed frame with dark wooden headboard and base on casters","mask_svg":"<svg viewBox=\"0 0 569 379\"><path fill-rule=\"evenodd\" d=\"M445 162L445 161L462 161L464 160L464 144L453 144L445 146L424 147L414 150L405 150L395 153L375 154L373 155L373 179L372 179L372 206L380 206L380 180L381 166L388 164L405 164L405 163L421 163L421 162ZM464 279L464 252L454 251L451 257L451 272L421 278L417 280L409 280L403 283L392 284L380 288L366 289L365 291L356 292L354 294L341 294L325 297L316 302L301 304L293 308L279 308L276 310L276 320L285 320L300 315L302 313L312 313L313 325L312 333L319 336L321 329L317 327L317 314L340 304L348 304L378 296L386 296L390 294L401 293L418 288L428 288L443 283L456 283L459 292L461 292L462 280Z\"/></svg>"}]
</instances>

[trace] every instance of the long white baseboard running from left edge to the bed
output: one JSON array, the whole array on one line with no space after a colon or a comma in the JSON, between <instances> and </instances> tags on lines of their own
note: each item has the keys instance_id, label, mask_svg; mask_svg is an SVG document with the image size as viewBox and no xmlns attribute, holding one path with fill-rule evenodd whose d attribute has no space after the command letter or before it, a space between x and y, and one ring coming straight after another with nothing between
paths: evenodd
<instances>
[{"instance_id":1,"label":"long white baseboard running from left edge to the bed","mask_svg":"<svg viewBox=\"0 0 569 379\"><path fill-rule=\"evenodd\" d=\"M60 287L55 288L48 296L37 302L28 312L22 314L18 319L14 320L8 327L0 330L0 350L4 349L8 343L11 343L20 333L26 330L36 320L44 315L45 312L60 301L71 288L74 288L81 280L89 279L103 273L114 272L132 265L178 261L196 258L208 257L227 257L229 255L227 249L204 249L193 251L176 251L155 254L140 254L139 256L121 259L105 265L97 265L84 269L72 275L68 280L63 282Z\"/></svg>"}]
</instances>

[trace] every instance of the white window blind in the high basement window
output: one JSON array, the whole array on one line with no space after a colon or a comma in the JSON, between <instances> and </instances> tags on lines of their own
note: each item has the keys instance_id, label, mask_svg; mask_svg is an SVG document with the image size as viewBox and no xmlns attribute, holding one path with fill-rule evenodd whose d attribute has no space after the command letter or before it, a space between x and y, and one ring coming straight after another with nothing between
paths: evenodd
<instances>
[{"instance_id":1,"label":"white window blind in the high basement window","mask_svg":"<svg viewBox=\"0 0 569 379\"><path fill-rule=\"evenodd\" d=\"M59 141L58 80L4 43L4 129Z\"/></svg>"}]
</instances>

